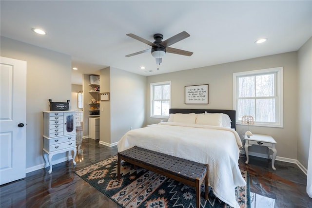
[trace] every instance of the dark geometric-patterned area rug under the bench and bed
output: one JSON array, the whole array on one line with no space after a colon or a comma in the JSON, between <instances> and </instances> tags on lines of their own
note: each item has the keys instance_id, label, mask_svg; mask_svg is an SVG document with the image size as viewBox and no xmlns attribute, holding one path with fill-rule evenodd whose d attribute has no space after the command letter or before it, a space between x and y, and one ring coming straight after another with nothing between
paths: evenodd
<instances>
[{"instance_id":1,"label":"dark geometric-patterned area rug under the bench and bed","mask_svg":"<svg viewBox=\"0 0 312 208\"><path fill-rule=\"evenodd\" d=\"M250 208L249 174L241 171L247 181L246 187L235 189L241 208ZM126 162L117 180L117 156L103 160L75 173L124 208L195 208L195 188L177 182L152 171L134 167ZM230 208L215 197L209 188L209 200L205 200L204 185L201 189L201 207Z\"/></svg>"}]
</instances>

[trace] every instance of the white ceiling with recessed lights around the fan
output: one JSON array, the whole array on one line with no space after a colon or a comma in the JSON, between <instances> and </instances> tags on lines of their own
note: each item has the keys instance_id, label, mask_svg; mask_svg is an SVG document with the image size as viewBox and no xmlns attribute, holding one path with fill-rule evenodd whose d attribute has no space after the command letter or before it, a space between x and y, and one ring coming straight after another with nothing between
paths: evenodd
<instances>
[{"instance_id":1,"label":"white ceiling with recessed lights around the fan","mask_svg":"<svg viewBox=\"0 0 312 208\"><path fill-rule=\"evenodd\" d=\"M312 1L1 0L0 7L0 35L71 55L76 84L108 66L151 76L297 51L312 36ZM150 48L128 33L154 42L156 33L165 40L182 31L191 37L171 47L191 57L168 53L159 71L150 53L125 57ZM258 38L268 41L257 45Z\"/></svg>"}]
</instances>

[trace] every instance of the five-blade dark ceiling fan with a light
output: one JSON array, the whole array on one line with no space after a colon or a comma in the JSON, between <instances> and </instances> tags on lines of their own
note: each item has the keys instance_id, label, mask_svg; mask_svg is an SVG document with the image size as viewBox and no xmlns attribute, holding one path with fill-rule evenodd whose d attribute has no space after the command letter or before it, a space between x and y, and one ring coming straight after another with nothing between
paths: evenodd
<instances>
[{"instance_id":1,"label":"five-blade dark ceiling fan with a light","mask_svg":"<svg viewBox=\"0 0 312 208\"><path fill-rule=\"evenodd\" d=\"M152 46L152 48L150 49L146 49L144 51L139 51L137 53L133 53L133 54L129 54L126 55L125 57L132 57L138 54L143 54L146 52L152 52L152 56L156 58L156 63L159 65L161 63L161 58L165 56L166 53L172 53L172 54L178 54L178 55L183 55L183 56L192 56L193 52L190 51L184 51L181 49L176 49L176 48L171 48L169 46L171 46L172 44L183 40L185 38L190 37L190 34L188 34L187 32L183 31L179 34L176 34L175 36L168 38L164 41L162 41L163 35L157 33L154 35L154 42L150 42L144 38L138 37L132 33L130 34L126 34L127 36L134 38L138 41L141 41L145 44L148 44L149 46Z\"/></svg>"}]
</instances>

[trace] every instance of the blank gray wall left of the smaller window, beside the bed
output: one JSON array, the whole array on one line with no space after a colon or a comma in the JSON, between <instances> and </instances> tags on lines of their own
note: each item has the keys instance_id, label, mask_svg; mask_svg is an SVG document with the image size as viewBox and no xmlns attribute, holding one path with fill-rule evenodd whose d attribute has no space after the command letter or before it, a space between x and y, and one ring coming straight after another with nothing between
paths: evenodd
<instances>
[{"instance_id":1,"label":"blank gray wall left of the smaller window, beside the bed","mask_svg":"<svg viewBox=\"0 0 312 208\"><path fill-rule=\"evenodd\" d=\"M117 143L131 127L143 126L145 86L145 76L111 68L111 143Z\"/></svg>"}]
</instances>

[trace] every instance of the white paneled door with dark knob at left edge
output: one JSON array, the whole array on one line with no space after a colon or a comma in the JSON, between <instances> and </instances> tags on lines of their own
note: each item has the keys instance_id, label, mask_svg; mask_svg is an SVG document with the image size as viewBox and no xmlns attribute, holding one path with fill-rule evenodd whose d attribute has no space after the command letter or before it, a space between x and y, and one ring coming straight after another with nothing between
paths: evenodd
<instances>
[{"instance_id":1,"label":"white paneled door with dark knob at left edge","mask_svg":"<svg viewBox=\"0 0 312 208\"><path fill-rule=\"evenodd\" d=\"M26 61L0 57L0 185L26 176Z\"/></svg>"}]
</instances>

